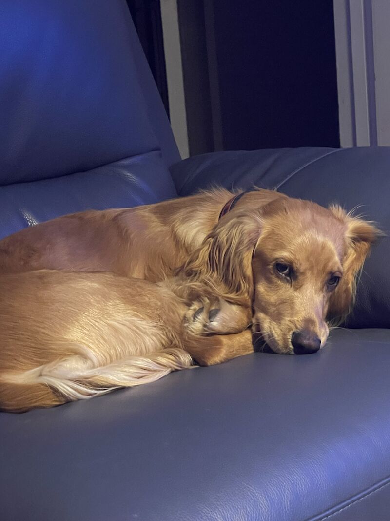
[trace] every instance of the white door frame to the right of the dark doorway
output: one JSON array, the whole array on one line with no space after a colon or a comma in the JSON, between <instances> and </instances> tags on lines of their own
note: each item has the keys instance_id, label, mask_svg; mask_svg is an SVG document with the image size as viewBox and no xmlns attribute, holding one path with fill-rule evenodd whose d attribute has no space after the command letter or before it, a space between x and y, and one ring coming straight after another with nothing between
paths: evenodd
<instances>
[{"instance_id":1,"label":"white door frame to the right of the dark doorway","mask_svg":"<svg viewBox=\"0 0 390 521\"><path fill-rule=\"evenodd\" d=\"M333 0L340 144L390 145L390 1Z\"/></svg>"}]
</instances>

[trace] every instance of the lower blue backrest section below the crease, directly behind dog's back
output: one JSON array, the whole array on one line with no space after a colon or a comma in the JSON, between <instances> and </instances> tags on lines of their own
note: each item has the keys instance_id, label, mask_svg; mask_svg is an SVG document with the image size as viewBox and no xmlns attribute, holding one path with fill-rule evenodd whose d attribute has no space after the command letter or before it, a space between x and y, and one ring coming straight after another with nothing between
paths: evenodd
<instances>
[{"instance_id":1,"label":"lower blue backrest section below the crease, directly behind dog's back","mask_svg":"<svg viewBox=\"0 0 390 521\"><path fill-rule=\"evenodd\" d=\"M86 172L0 186L0 238L64 214L152 204L176 196L158 151Z\"/></svg>"}]
</instances>

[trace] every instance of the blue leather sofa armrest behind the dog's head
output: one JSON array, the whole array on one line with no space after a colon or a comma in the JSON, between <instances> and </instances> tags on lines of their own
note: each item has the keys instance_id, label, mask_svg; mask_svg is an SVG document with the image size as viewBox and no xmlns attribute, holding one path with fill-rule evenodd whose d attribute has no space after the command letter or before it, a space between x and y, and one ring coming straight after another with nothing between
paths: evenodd
<instances>
[{"instance_id":1,"label":"blue leather sofa armrest behind the dog's head","mask_svg":"<svg viewBox=\"0 0 390 521\"><path fill-rule=\"evenodd\" d=\"M285 148L217 152L171 168L180 195L219 184L274 189L323 206L345 209L378 222L387 233L374 246L358 285L349 327L390 327L390 147Z\"/></svg>"}]
</instances>

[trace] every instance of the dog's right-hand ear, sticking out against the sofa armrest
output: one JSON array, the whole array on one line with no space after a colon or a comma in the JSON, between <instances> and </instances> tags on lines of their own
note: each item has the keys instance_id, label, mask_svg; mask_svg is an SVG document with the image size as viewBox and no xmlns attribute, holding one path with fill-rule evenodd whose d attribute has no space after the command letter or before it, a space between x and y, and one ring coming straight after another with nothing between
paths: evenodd
<instances>
[{"instance_id":1,"label":"dog's right-hand ear, sticking out against the sofa armrest","mask_svg":"<svg viewBox=\"0 0 390 521\"><path fill-rule=\"evenodd\" d=\"M345 224L344 275L329 300L328 318L340 324L350 312L356 293L356 278L372 244L383 233L370 221L346 213L340 206L329 207L333 215Z\"/></svg>"}]
</instances>

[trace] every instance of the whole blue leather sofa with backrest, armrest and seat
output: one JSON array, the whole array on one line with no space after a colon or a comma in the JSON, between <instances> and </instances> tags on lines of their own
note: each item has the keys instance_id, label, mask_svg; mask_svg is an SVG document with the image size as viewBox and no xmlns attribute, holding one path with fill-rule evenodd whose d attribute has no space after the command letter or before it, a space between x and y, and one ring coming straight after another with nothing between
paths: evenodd
<instances>
[{"instance_id":1,"label":"whole blue leather sofa with backrest, armrest and seat","mask_svg":"<svg viewBox=\"0 0 390 521\"><path fill-rule=\"evenodd\" d=\"M212 183L390 222L390 150L180 161L124 0L0 3L0 235ZM282 125L282 121L281 121ZM389 240L349 329L49 410L0 414L2 521L388 521Z\"/></svg>"}]
</instances>

